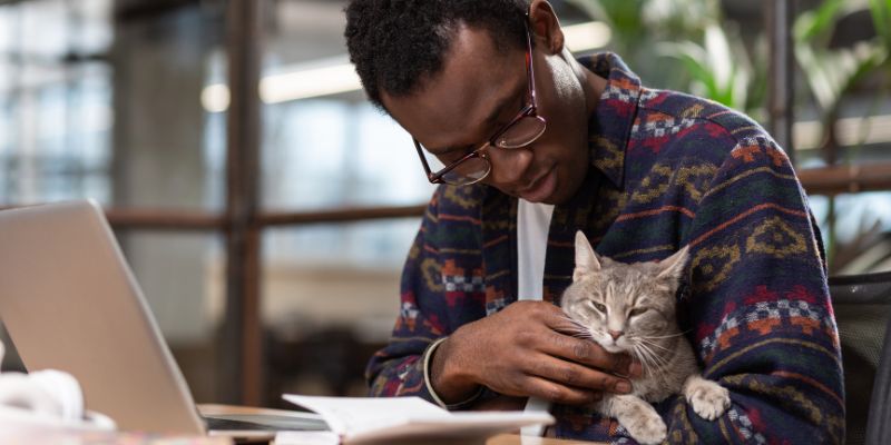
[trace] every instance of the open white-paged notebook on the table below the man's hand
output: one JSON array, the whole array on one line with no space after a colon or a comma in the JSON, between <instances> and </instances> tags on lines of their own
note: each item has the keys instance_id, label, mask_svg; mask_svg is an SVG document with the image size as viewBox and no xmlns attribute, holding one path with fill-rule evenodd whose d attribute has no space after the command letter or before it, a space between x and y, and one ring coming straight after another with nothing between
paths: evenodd
<instances>
[{"instance_id":1,"label":"open white-paged notebook on the table below the man's hand","mask_svg":"<svg viewBox=\"0 0 891 445\"><path fill-rule=\"evenodd\" d=\"M314 397L286 394L284 398L319 413L327 422L332 433L341 437L343 443L351 444L412 439L482 439L495 434L517 431L526 425L554 423L554 417L547 413L449 413L420 397Z\"/></svg>"}]
</instances>

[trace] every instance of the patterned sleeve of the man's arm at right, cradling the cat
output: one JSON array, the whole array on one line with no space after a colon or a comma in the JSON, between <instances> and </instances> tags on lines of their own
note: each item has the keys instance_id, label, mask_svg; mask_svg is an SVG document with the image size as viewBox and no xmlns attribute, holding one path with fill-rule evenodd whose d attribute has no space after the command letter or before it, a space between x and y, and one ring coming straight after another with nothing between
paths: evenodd
<instances>
[{"instance_id":1,"label":"patterned sleeve of the man's arm at right, cradling the cat","mask_svg":"<svg viewBox=\"0 0 891 445\"><path fill-rule=\"evenodd\" d=\"M838 329L810 209L786 155L740 140L696 211L678 306L703 375L731 392L714 422L662 406L672 443L842 443Z\"/></svg>"}]
</instances>

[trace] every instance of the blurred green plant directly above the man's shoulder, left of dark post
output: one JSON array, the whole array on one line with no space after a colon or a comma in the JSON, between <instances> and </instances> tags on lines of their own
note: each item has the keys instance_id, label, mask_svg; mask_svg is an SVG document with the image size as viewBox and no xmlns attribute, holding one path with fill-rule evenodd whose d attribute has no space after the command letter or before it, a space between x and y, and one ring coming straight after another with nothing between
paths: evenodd
<instances>
[{"instance_id":1,"label":"blurred green plant directly above the man's shoulder, left of dark post","mask_svg":"<svg viewBox=\"0 0 891 445\"><path fill-rule=\"evenodd\" d=\"M648 82L691 91L755 119L764 116L766 57L758 48L752 55L746 51L734 23L722 20L719 2L570 2L610 27L610 49L634 63Z\"/></svg>"}]
</instances>

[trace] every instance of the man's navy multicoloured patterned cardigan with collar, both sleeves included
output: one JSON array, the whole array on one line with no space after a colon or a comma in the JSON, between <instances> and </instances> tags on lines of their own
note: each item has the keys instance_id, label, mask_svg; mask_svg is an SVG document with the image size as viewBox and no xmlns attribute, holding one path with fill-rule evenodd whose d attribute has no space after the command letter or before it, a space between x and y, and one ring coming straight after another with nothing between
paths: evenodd
<instances>
[{"instance_id":1,"label":"man's navy multicoloured patterned cardigan with collar, both sleeves included","mask_svg":"<svg viewBox=\"0 0 891 445\"><path fill-rule=\"evenodd\" d=\"M626 263L689 245L681 327L732 406L707 422L681 396L656 404L668 442L841 443L841 354L822 247L786 155L738 112L642 87L615 55L580 61L608 85L590 117L588 176L554 210L544 299L558 303L571 281L577 229ZM431 342L517 299L516 237L516 198L482 185L437 189L405 263L393 337L369 364L373 396L431 399L421 360ZM559 437L634 443L590 408L551 413Z\"/></svg>"}]
</instances>

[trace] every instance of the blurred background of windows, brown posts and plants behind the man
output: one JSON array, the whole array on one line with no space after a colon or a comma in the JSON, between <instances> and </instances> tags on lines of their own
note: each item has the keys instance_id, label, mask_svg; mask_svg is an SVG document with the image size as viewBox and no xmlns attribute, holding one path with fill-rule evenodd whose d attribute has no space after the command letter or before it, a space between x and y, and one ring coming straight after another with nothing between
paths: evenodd
<instances>
[{"instance_id":1,"label":"blurred background of windows, brown posts and plants behind the man","mask_svg":"<svg viewBox=\"0 0 891 445\"><path fill-rule=\"evenodd\" d=\"M551 3L575 52L768 128L832 275L891 270L891 0ZM0 0L0 207L98 200L199 403L362 395L399 310L432 187L344 4Z\"/></svg>"}]
</instances>

